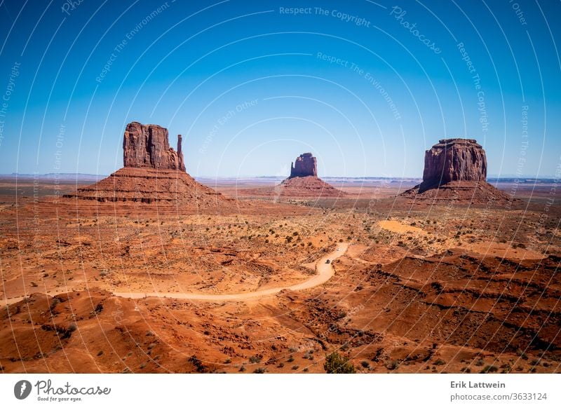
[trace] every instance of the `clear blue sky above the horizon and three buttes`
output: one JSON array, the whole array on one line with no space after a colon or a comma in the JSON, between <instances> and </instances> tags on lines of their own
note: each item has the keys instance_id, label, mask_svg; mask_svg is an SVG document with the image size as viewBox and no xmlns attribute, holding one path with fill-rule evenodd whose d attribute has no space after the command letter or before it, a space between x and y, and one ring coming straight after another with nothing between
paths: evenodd
<instances>
[{"instance_id":1,"label":"clear blue sky above the horizon and three buttes","mask_svg":"<svg viewBox=\"0 0 561 408\"><path fill-rule=\"evenodd\" d=\"M420 177L466 136L492 175L561 163L560 1L0 1L0 173L109 174L130 121L194 176Z\"/></svg>"}]
</instances>

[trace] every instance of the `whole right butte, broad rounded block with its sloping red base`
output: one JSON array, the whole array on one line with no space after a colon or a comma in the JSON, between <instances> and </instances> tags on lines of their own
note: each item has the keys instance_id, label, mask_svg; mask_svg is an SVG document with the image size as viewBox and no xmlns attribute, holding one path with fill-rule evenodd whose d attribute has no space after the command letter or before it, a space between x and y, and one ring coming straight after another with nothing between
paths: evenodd
<instances>
[{"instance_id":1,"label":"whole right butte, broad rounded block with its sloping red base","mask_svg":"<svg viewBox=\"0 0 561 408\"><path fill-rule=\"evenodd\" d=\"M415 200L504 203L509 197L487 183L485 150L473 139L443 139L425 151L423 182L400 194Z\"/></svg>"}]
</instances>

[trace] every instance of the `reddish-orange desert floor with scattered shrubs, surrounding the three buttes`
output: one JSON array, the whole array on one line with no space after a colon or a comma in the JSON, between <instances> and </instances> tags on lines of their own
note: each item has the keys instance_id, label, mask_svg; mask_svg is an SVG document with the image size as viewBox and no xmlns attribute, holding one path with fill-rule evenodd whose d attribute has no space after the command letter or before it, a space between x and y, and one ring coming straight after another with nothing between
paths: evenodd
<instances>
[{"instance_id":1,"label":"reddish-orange desert floor with scattered shrubs, surrounding the three buttes","mask_svg":"<svg viewBox=\"0 0 561 408\"><path fill-rule=\"evenodd\" d=\"M498 206L396 198L414 181L318 200L203 182L240 205L0 179L1 371L321 373L337 351L357 372L561 372L555 186L499 184L520 200Z\"/></svg>"}]
</instances>

